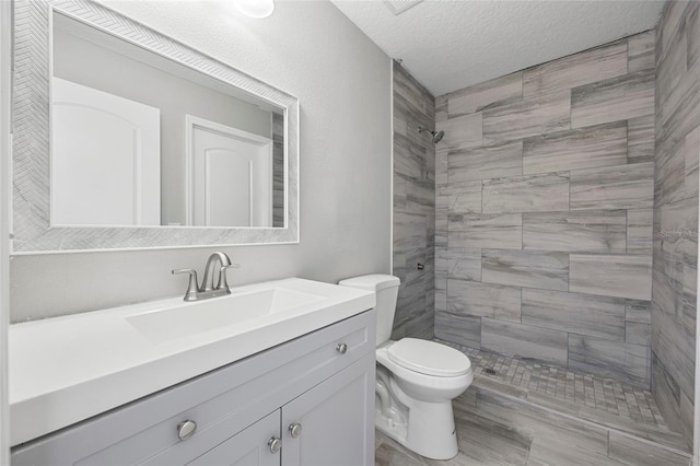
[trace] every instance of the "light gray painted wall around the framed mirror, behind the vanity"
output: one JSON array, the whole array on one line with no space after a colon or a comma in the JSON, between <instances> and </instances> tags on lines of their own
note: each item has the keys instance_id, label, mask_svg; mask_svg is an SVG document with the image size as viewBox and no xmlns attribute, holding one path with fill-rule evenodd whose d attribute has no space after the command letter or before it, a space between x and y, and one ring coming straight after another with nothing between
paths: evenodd
<instances>
[{"instance_id":1,"label":"light gray painted wall around the framed mirror, behind the vanity","mask_svg":"<svg viewBox=\"0 0 700 466\"><path fill-rule=\"evenodd\" d=\"M278 1L266 20L231 2L105 4L300 100L301 244L218 248L241 264L231 282L390 271L390 60L376 45L329 2ZM13 257L12 318L184 293L171 269L201 270L212 251Z\"/></svg>"}]
</instances>

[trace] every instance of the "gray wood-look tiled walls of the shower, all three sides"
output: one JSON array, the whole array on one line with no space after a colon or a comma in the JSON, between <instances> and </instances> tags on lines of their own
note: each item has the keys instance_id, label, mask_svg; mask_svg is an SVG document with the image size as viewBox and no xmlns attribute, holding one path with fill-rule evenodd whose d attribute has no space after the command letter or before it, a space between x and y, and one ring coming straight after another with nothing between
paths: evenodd
<instances>
[{"instance_id":1,"label":"gray wood-look tiled walls of the shower, all three sides","mask_svg":"<svg viewBox=\"0 0 700 466\"><path fill-rule=\"evenodd\" d=\"M668 2L655 30L436 97L394 65L395 337L651 391L690 444L699 16Z\"/></svg>"}]
</instances>

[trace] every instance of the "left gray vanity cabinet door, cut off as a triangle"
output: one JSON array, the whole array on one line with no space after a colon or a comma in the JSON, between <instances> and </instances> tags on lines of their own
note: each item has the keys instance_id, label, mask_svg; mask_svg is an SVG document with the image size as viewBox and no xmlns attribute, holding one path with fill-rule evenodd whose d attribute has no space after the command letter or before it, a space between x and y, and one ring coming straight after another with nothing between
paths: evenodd
<instances>
[{"instance_id":1,"label":"left gray vanity cabinet door, cut off as a triangle","mask_svg":"<svg viewBox=\"0 0 700 466\"><path fill-rule=\"evenodd\" d=\"M280 436L280 411L260 419L188 465L197 466L280 466L280 452L268 442Z\"/></svg>"}]
</instances>

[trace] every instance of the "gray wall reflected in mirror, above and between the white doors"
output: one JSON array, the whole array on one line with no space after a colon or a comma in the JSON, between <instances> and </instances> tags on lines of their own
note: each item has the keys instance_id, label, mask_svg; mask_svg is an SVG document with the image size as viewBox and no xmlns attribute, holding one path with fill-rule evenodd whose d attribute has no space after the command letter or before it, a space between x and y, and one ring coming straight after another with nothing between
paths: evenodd
<instances>
[{"instance_id":1,"label":"gray wall reflected in mirror, above and between the white doors","mask_svg":"<svg viewBox=\"0 0 700 466\"><path fill-rule=\"evenodd\" d=\"M54 30L54 75L161 110L161 223L186 224L185 116L272 137L272 115L205 85Z\"/></svg>"}]
</instances>

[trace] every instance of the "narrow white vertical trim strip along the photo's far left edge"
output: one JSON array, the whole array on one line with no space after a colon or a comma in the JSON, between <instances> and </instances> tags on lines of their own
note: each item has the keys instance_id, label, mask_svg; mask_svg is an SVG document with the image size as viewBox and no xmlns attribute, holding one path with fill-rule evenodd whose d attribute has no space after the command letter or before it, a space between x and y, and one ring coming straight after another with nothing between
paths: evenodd
<instances>
[{"instance_id":1,"label":"narrow white vertical trim strip along the photo's far left edge","mask_svg":"<svg viewBox=\"0 0 700 466\"><path fill-rule=\"evenodd\" d=\"M10 322L10 148L12 5L0 2L0 465L10 464L8 325Z\"/></svg>"}]
</instances>

